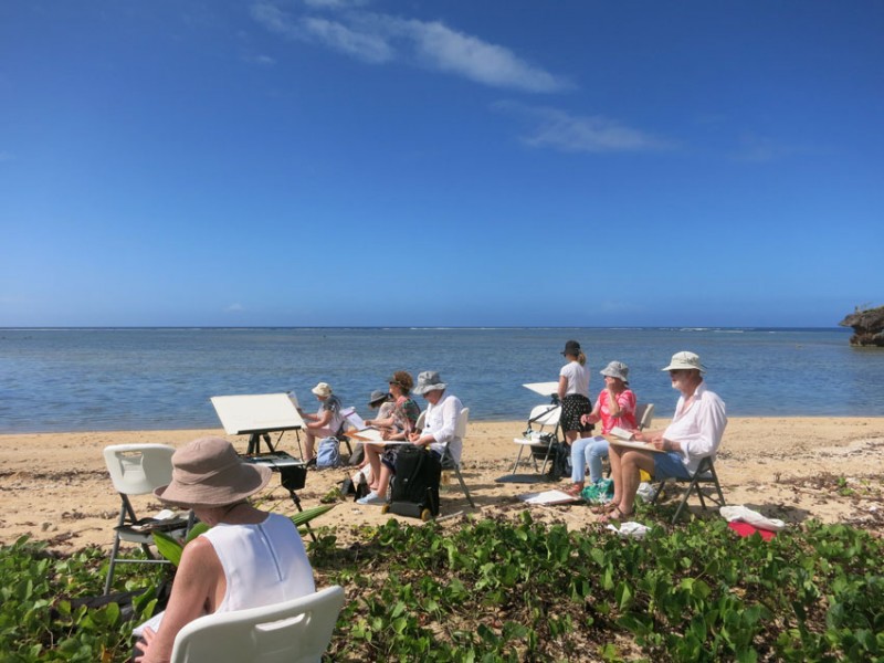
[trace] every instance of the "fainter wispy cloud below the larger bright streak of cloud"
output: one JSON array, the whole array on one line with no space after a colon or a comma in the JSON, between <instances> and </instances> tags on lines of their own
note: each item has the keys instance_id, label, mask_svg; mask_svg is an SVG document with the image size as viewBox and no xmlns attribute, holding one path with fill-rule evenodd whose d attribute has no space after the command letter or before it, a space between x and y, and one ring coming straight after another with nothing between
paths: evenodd
<instances>
[{"instance_id":1,"label":"fainter wispy cloud below the larger bright streak of cloud","mask_svg":"<svg viewBox=\"0 0 884 663\"><path fill-rule=\"evenodd\" d=\"M655 151L676 147L672 140L600 115L570 115L556 108L513 102L498 102L494 108L532 124L522 136L522 141L532 147L569 152Z\"/></svg>"}]
</instances>

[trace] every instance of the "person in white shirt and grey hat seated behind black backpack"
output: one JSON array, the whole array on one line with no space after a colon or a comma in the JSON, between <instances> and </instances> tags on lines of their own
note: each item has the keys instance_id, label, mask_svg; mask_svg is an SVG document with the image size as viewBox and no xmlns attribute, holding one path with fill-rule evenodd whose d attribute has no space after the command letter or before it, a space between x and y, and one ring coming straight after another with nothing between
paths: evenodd
<instances>
[{"instance_id":1,"label":"person in white shirt and grey hat seated behind black backpack","mask_svg":"<svg viewBox=\"0 0 884 663\"><path fill-rule=\"evenodd\" d=\"M448 386L434 370L423 371L418 376L418 386L414 393L427 399L427 414L423 419L423 430L413 431L408 435L409 442L419 446L427 446L430 453L436 454L440 459L449 444L449 451L455 462L461 461L463 440L456 438L457 419L461 415L463 406L454 394L445 394ZM394 464L388 464L387 460L381 464L380 477L377 490L372 491L361 499L359 504L385 504L387 502L387 488L390 486L390 477L396 472Z\"/></svg>"}]
</instances>

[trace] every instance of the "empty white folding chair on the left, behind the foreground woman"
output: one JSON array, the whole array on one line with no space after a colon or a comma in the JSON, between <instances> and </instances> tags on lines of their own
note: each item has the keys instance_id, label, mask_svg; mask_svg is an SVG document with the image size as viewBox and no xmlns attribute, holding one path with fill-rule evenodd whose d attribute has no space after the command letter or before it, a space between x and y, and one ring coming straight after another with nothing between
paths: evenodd
<instances>
[{"instance_id":1,"label":"empty white folding chair on the left, behind the foreground woman","mask_svg":"<svg viewBox=\"0 0 884 663\"><path fill-rule=\"evenodd\" d=\"M152 493L154 488L168 485L172 480L173 453L175 448L166 444L112 444L104 449L104 462L120 497L119 518L114 528L114 546L104 582L105 594L110 591L114 569L118 564L169 564L150 551L152 533L149 528L139 527L145 525L146 519L139 520L129 496L145 495ZM164 529L172 532L187 529L187 522L181 518L158 523L162 524ZM118 559L119 543L124 540L139 544L147 559Z\"/></svg>"}]
</instances>

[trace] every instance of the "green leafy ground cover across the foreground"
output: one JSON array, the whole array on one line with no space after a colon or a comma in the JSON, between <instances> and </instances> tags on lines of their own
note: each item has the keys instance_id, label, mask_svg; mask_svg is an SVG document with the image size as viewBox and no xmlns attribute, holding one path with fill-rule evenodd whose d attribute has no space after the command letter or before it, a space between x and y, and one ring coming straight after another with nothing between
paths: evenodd
<instances>
[{"instance_id":1,"label":"green leafy ground cover across the foreground","mask_svg":"<svg viewBox=\"0 0 884 663\"><path fill-rule=\"evenodd\" d=\"M884 544L849 526L811 522L765 543L695 519L631 540L525 512L391 520L348 547L326 532L309 552L318 585L347 591L334 661L884 660ZM125 661L133 622L115 604L60 600L101 593L105 564L94 549L3 547L0 660ZM130 588L161 572L124 568Z\"/></svg>"}]
</instances>

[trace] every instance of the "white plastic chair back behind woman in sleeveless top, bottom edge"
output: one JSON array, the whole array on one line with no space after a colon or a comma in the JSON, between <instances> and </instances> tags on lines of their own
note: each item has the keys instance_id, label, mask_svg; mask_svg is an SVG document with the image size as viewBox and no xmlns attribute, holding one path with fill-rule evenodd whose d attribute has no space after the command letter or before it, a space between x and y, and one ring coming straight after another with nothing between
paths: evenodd
<instances>
[{"instance_id":1,"label":"white plastic chair back behind woman in sleeveless top, bottom edge","mask_svg":"<svg viewBox=\"0 0 884 663\"><path fill-rule=\"evenodd\" d=\"M344 606L337 585L290 601L218 612L178 632L171 663L314 663L322 660Z\"/></svg>"}]
</instances>

